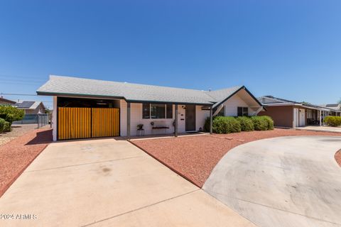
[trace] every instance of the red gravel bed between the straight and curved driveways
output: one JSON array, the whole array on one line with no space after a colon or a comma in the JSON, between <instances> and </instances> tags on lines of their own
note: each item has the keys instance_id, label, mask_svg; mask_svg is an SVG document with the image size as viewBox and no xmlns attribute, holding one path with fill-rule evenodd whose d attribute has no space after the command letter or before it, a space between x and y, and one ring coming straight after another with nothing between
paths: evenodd
<instances>
[{"instance_id":1,"label":"red gravel bed between the straight and curved driveways","mask_svg":"<svg viewBox=\"0 0 341 227\"><path fill-rule=\"evenodd\" d=\"M190 180L193 184L202 187L217 162L237 145L254 140L289 135L341 136L341 133L275 129L274 131L132 140L131 143L145 150L146 153L178 172L179 175Z\"/></svg>"}]
</instances>

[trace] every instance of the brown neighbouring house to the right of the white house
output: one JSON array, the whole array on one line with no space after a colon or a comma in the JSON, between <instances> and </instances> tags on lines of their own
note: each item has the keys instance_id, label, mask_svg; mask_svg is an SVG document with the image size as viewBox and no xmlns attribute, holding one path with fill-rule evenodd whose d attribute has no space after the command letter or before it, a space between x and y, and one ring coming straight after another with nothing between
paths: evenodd
<instances>
[{"instance_id":1,"label":"brown neighbouring house to the right of the white house","mask_svg":"<svg viewBox=\"0 0 341 227\"><path fill-rule=\"evenodd\" d=\"M266 111L261 111L258 115L271 116L274 120L274 126L283 128L296 128L308 125L320 126L323 123L323 118L330 115L332 111L328 107L281 99L274 96L261 96L259 101L266 108Z\"/></svg>"}]
</instances>

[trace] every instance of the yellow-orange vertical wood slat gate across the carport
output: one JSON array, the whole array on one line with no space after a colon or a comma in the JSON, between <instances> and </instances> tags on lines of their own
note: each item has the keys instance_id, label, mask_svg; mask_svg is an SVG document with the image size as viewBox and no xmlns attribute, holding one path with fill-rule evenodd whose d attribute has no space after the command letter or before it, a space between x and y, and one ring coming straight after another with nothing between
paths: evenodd
<instances>
[{"instance_id":1,"label":"yellow-orange vertical wood slat gate across the carport","mask_svg":"<svg viewBox=\"0 0 341 227\"><path fill-rule=\"evenodd\" d=\"M58 140L119 135L119 109L58 107Z\"/></svg>"}]
</instances>

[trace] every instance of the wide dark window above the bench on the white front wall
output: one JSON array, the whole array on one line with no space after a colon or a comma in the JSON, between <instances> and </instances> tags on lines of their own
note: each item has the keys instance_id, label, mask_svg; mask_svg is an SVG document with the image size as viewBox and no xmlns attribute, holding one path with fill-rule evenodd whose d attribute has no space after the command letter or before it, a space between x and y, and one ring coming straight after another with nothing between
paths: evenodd
<instances>
[{"instance_id":1,"label":"wide dark window above the bench on the white front wall","mask_svg":"<svg viewBox=\"0 0 341 227\"><path fill-rule=\"evenodd\" d=\"M173 118L173 105L145 103L142 105L142 118L144 119Z\"/></svg>"}]
</instances>

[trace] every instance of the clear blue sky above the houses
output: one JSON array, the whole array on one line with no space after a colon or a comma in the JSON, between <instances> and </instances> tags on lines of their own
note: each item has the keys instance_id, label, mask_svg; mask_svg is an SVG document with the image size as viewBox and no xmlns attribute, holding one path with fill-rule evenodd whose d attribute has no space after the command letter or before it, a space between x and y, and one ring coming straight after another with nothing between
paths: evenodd
<instances>
[{"instance_id":1,"label":"clear blue sky above the houses","mask_svg":"<svg viewBox=\"0 0 341 227\"><path fill-rule=\"evenodd\" d=\"M35 94L60 74L333 103L340 11L338 0L0 1L0 93Z\"/></svg>"}]
</instances>

